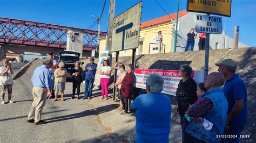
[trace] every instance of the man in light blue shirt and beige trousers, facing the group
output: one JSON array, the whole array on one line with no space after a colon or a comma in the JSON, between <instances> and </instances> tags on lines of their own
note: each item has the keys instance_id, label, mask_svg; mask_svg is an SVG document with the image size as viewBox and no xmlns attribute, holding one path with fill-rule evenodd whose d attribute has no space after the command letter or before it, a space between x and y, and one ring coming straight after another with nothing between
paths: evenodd
<instances>
[{"instance_id":1,"label":"man in light blue shirt and beige trousers, facing the group","mask_svg":"<svg viewBox=\"0 0 256 143\"><path fill-rule=\"evenodd\" d=\"M29 111L28 122L39 124L46 124L46 121L41 120L42 110L46 103L46 98L51 97L51 75L49 68L52 67L52 60L45 59L43 65L37 67L31 78L33 89L33 103ZM35 117L35 120L33 119Z\"/></svg>"}]
</instances>

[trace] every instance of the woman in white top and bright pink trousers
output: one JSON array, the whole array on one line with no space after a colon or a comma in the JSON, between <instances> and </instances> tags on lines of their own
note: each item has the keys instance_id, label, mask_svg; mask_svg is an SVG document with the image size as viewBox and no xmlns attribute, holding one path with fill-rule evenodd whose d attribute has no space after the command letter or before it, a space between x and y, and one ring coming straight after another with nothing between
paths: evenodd
<instances>
[{"instance_id":1,"label":"woman in white top and bright pink trousers","mask_svg":"<svg viewBox=\"0 0 256 143\"><path fill-rule=\"evenodd\" d=\"M99 70L100 74L100 85L102 85L102 97L100 99L104 98L107 100L107 95L109 94L109 83L110 83L110 77L111 77L111 67L109 66L109 61L104 60L103 67Z\"/></svg>"}]
</instances>

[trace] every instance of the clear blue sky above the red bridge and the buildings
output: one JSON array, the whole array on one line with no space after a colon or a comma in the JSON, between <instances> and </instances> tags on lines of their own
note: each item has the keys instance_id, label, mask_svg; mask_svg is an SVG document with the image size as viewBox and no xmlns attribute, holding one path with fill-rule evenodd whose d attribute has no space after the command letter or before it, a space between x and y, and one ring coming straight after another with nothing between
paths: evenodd
<instances>
[{"instance_id":1,"label":"clear blue sky above the red bridge and the buildings","mask_svg":"<svg viewBox=\"0 0 256 143\"><path fill-rule=\"evenodd\" d=\"M177 11L178 0L157 1L168 13ZM116 0L116 16L138 2L139 0ZM180 10L186 9L186 2L187 0L180 0ZM104 0L0 0L0 17L88 28L96 20L91 15L99 16L103 4ZM109 0L106 1L102 17L102 31L107 30L108 11ZM142 22L166 15L156 0L144 0L142 12ZM225 17L223 22L224 20ZM231 17L226 18L225 26L225 31L231 38L234 37L235 25L240 26L239 41L248 46L256 46L255 0L232 0ZM97 28L95 25L91 29Z\"/></svg>"}]
</instances>

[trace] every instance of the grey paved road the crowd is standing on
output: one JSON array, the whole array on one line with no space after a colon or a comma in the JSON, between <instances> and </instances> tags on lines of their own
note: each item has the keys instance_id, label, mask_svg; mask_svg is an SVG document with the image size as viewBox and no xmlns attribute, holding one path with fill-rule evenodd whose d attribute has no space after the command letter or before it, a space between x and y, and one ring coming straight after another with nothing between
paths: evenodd
<instances>
[{"instance_id":1,"label":"grey paved road the crowd is standing on","mask_svg":"<svg viewBox=\"0 0 256 143\"><path fill-rule=\"evenodd\" d=\"M110 99L68 99L72 83L66 83L65 102L52 99L46 102L42 118L49 121L48 124L27 123L32 104L30 78L41 63L41 60L33 62L26 73L14 81L12 99L16 103L0 105L0 142L133 142L134 114L120 115L117 103ZM99 91L93 91L93 96L99 95ZM180 142L180 125L171 124L170 142Z\"/></svg>"}]
</instances>

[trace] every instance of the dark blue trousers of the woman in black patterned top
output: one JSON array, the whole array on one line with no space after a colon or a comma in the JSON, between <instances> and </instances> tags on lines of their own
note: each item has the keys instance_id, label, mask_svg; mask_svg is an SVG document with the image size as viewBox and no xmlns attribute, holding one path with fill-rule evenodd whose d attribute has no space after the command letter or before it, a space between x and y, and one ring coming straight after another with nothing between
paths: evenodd
<instances>
[{"instance_id":1,"label":"dark blue trousers of the woman in black patterned top","mask_svg":"<svg viewBox=\"0 0 256 143\"><path fill-rule=\"evenodd\" d=\"M186 133L186 128L188 123L190 123L184 115L179 115L180 117L180 125L181 125L181 132L182 132L182 142L190 142L190 134Z\"/></svg>"}]
</instances>

